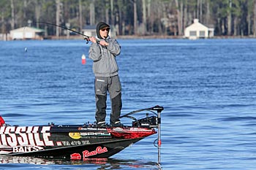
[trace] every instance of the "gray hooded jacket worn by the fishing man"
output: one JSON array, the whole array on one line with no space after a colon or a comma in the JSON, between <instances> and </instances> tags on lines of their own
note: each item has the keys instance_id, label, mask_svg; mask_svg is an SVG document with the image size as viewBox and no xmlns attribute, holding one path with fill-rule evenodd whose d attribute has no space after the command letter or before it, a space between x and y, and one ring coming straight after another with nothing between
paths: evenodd
<instances>
[{"instance_id":1,"label":"gray hooded jacket worn by the fishing man","mask_svg":"<svg viewBox=\"0 0 256 170\"><path fill-rule=\"evenodd\" d=\"M109 43L107 47L99 45L98 41ZM89 58L94 61L93 70L95 77L113 77L118 75L116 56L121 52L121 47L116 39L97 39L89 49Z\"/></svg>"}]
</instances>

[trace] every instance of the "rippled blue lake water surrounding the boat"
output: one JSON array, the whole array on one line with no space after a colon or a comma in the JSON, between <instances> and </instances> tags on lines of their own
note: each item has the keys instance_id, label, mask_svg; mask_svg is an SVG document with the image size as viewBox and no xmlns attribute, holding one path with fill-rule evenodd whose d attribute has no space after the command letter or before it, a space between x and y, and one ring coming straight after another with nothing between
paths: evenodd
<instances>
[{"instance_id":1,"label":"rippled blue lake water surrounding the boat","mask_svg":"<svg viewBox=\"0 0 256 170\"><path fill-rule=\"evenodd\" d=\"M122 115L165 107L162 169L255 169L256 39L118 42ZM94 122L94 74L83 40L0 46L0 114L7 123ZM109 115L109 98L108 106ZM0 169L158 169L155 139L143 139L102 163L0 158Z\"/></svg>"}]
</instances>

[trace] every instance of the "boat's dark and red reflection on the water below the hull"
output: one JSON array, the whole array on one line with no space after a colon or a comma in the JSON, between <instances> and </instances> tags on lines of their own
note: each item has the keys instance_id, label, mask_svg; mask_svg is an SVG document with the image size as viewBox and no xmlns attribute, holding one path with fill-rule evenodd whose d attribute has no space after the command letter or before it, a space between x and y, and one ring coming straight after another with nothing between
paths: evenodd
<instances>
[{"instance_id":1,"label":"boat's dark and red reflection on the water below the hull","mask_svg":"<svg viewBox=\"0 0 256 170\"><path fill-rule=\"evenodd\" d=\"M88 159L83 161L67 161L65 159L54 159L54 158L34 158L34 157L23 157L23 156L0 156L0 163L5 163L4 167L10 168L14 164L18 163L21 168L22 164L24 164L26 168L26 164L34 164L34 165L66 165L66 168L79 166L88 168L91 166L98 166L98 169L161 169L159 163L151 162L151 161L143 161L143 160L118 160L113 158L108 159ZM3 166L1 166L3 167ZM17 166L15 166L17 168Z\"/></svg>"}]
</instances>

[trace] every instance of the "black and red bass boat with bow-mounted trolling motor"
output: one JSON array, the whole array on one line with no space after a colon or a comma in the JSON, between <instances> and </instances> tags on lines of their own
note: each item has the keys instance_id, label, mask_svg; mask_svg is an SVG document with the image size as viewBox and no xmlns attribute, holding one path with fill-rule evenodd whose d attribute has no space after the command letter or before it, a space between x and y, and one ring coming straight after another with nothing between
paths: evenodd
<instances>
[{"instance_id":1,"label":"black and red bass boat with bow-mounted trolling motor","mask_svg":"<svg viewBox=\"0 0 256 170\"><path fill-rule=\"evenodd\" d=\"M1 120L0 155L29 156L37 158L64 158L86 160L109 158L130 144L157 134L160 140L160 113L164 108L155 106L129 112L122 117L132 119L132 125L98 128L97 125L7 125ZM136 112L146 112L146 117L136 119ZM152 115L149 115L152 114ZM156 146L156 144L155 144Z\"/></svg>"}]
</instances>

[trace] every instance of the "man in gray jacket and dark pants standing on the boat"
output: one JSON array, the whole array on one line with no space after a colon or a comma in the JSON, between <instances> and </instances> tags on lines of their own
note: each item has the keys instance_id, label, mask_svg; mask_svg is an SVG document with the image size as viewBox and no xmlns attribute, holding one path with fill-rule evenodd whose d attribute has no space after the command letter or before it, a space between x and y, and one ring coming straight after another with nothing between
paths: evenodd
<instances>
[{"instance_id":1,"label":"man in gray jacket and dark pants standing on the boat","mask_svg":"<svg viewBox=\"0 0 256 170\"><path fill-rule=\"evenodd\" d=\"M94 90L96 98L95 118L97 126L105 128L105 117L107 108L107 92L111 99L110 125L121 127L119 120L121 114L121 82L118 77L118 66L116 56L120 54L121 47L116 39L108 35L110 26L107 23L99 22L96 27L97 37L91 36L92 42L89 49L89 58L93 63L95 75Z\"/></svg>"}]
</instances>

